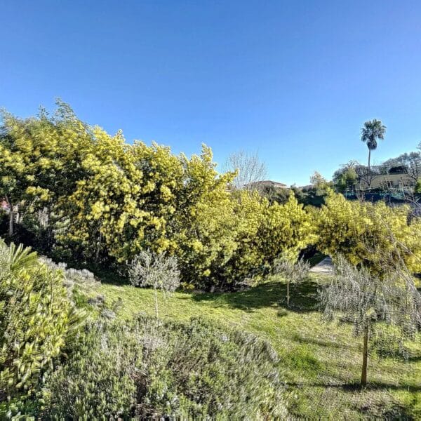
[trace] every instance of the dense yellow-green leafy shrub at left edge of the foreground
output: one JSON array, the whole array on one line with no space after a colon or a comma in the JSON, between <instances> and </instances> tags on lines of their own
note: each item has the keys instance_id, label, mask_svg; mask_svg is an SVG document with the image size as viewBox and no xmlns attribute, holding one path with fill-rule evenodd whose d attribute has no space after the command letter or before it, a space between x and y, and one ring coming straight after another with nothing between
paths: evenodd
<instances>
[{"instance_id":1,"label":"dense yellow-green leafy shrub at left edge of the foreground","mask_svg":"<svg viewBox=\"0 0 421 421\"><path fill-rule=\"evenodd\" d=\"M0 243L0 390L32 394L66 338L81 321L67 298L60 271L29 248Z\"/></svg>"}]
</instances>

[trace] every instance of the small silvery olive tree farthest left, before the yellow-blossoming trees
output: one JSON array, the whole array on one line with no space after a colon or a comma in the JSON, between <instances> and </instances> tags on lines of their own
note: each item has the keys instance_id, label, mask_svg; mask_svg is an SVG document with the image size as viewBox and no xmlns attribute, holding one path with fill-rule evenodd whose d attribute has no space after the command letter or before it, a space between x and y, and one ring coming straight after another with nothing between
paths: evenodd
<instances>
[{"instance_id":1,"label":"small silvery olive tree farthest left, before the yellow-blossoming trees","mask_svg":"<svg viewBox=\"0 0 421 421\"><path fill-rule=\"evenodd\" d=\"M133 286L154 288L155 316L158 318L157 290L171 293L180 285L180 271L177 258L165 253L152 253L143 250L128 264L128 277Z\"/></svg>"}]
</instances>

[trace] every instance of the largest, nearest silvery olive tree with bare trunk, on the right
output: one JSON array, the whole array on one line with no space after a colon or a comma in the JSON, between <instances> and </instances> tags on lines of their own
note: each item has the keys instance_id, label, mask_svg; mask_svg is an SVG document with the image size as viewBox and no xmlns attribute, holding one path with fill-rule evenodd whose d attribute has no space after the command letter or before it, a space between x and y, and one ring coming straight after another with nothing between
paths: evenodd
<instances>
[{"instance_id":1,"label":"largest, nearest silvery olive tree with bare trunk, on the right","mask_svg":"<svg viewBox=\"0 0 421 421\"><path fill-rule=\"evenodd\" d=\"M406 279L406 272L390 269L375 276L365 267L356 267L343 256L336 258L335 272L320 291L324 316L354 324L354 333L363 336L361 386L367 383L368 339L376 323L393 324L401 335L413 335L419 328L420 296Z\"/></svg>"}]
</instances>

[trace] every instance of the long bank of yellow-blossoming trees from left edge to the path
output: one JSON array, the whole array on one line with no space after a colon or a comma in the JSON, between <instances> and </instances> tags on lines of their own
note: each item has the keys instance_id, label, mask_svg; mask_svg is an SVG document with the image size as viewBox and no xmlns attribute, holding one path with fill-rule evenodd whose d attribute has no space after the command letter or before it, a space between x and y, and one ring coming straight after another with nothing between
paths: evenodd
<instances>
[{"instance_id":1,"label":"long bank of yellow-blossoming trees from left edge to the path","mask_svg":"<svg viewBox=\"0 0 421 421\"><path fill-rule=\"evenodd\" d=\"M18 232L58 260L111 265L149 249L178 258L183 282L211 288L262 274L309 241L295 198L271 206L232 192L235 173L218 173L205 145L190 158L129 145L62 102L53 116L4 114L0 134L0 192L18 206Z\"/></svg>"}]
</instances>

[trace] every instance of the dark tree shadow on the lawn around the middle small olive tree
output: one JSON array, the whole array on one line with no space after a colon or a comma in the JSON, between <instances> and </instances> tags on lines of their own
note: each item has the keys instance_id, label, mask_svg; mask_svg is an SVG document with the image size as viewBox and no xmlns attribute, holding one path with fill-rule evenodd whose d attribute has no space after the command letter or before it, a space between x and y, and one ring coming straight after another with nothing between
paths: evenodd
<instances>
[{"instance_id":1,"label":"dark tree shadow on the lawn around the middle small olive tree","mask_svg":"<svg viewBox=\"0 0 421 421\"><path fill-rule=\"evenodd\" d=\"M197 302L213 301L219 307L233 307L253 312L264 307L279 307L291 312L313 312L316 310L317 283L307 280L290 291L290 306L286 307L286 285L278 281L262 283L259 286L236 293L201 293L192 295ZM285 315L282 310L279 316Z\"/></svg>"}]
</instances>

